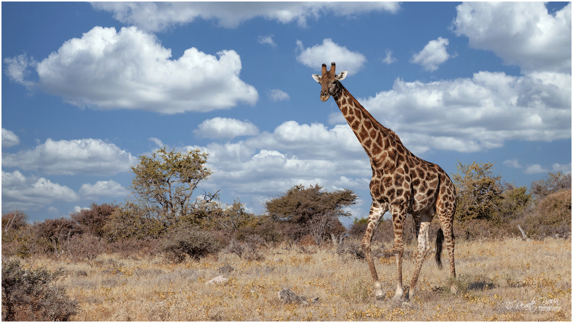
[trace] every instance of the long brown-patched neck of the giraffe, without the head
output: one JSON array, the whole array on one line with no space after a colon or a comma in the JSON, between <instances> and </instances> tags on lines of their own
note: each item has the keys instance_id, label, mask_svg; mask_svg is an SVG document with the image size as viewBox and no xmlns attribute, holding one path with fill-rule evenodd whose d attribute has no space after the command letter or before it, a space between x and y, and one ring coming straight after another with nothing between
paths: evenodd
<instances>
[{"instance_id":1,"label":"long brown-patched neck of the giraffe, without the head","mask_svg":"<svg viewBox=\"0 0 573 323\"><path fill-rule=\"evenodd\" d=\"M371 159L390 146L402 145L398 135L376 121L340 82L336 86L332 98Z\"/></svg>"}]
</instances>

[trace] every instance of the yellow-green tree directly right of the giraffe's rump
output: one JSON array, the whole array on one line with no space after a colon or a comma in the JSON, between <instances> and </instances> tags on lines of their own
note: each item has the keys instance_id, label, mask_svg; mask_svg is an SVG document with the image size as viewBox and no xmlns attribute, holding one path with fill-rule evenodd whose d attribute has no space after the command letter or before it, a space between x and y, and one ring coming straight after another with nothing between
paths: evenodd
<instances>
[{"instance_id":1,"label":"yellow-green tree directly right of the giraffe's rump","mask_svg":"<svg viewBox=\"0 0 573 323\"><path fill-rule=\"evenodd\" d=\"M502 196L501 175L493 174L493 163L462 164L452 178L456 182L456 215L460 221L478 219L499 222Z\"/></svg>"}]
</instances>

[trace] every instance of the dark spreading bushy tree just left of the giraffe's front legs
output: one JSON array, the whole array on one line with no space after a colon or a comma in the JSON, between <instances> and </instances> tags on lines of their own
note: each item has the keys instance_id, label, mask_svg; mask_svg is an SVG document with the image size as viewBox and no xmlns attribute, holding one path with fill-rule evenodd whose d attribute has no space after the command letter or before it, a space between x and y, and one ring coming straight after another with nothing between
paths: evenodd
<instances>
[{"instance_id":1,"label":"dark spreading bushy tree just left of the giraffe's front legs","mask_svg":"<svg viewBox=\"0 0 573 323\"><path fill-rule=\"evenodd\" d=\"M328 192L318 184L308 188L295 185L266 201L265 210L272 220L282 222L283 232L293 240L309 234L320 245L331 234L346 230L339 217L350 217L344 207L355 205L356 200L358 196L350 189Z\"/></svg>"}]
</instances>

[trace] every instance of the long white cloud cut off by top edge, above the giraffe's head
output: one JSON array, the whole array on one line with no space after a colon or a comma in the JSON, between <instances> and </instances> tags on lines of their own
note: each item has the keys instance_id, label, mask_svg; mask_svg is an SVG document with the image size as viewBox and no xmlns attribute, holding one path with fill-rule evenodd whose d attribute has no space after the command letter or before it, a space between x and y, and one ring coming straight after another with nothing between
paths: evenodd
<instances>
[{"instance_id":1,"label":"long white cloud cut off by top edge, above the giraffe's head","mask_svg":"<svg viewBox=\"0 0 573 323\"><path fill-rule=\"evenodd\" d=\"M321 15L354 17L371 11L396 13L400 8L399 2L92 2L92 6L111 11L120 22L151 31L197 18L215 19L227 28L255 17L281 23L296 21L304 27L308 18Z\"/></svg>"}]
</instances>

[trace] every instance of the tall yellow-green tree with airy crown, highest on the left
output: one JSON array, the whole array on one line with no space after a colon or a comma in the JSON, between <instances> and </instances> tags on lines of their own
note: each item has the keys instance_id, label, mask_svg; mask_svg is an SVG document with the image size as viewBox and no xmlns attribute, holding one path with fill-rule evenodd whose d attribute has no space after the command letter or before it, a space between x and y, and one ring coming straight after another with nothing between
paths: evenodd
<instances>
[{"instance_id":1,"label":"tall yellow-green tree with airy crown, highest on the left","mask_svg":"<svg viewBox=\"0 0 573 323\"><path fill-rule=\"evenodd\" d=\"M211 174L204 166L207 156L199 149L182 154L165 147L151 157L140 156L139 164L131 168L135 174L131 189L140 206L157 214L166 226L175 225L193 208L193 190Z\"/></svg>"}]
</instances>

